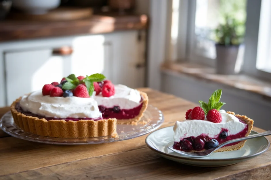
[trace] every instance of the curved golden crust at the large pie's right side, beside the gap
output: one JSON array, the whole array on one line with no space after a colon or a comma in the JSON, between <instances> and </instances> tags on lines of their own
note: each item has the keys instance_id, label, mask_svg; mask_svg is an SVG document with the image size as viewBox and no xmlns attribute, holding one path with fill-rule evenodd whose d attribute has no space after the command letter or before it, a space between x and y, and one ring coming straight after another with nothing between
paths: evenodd
<instances>
[{"instance_id":1,"label":"curved golden crust at the large pie's right side, beside the gap","mask_svg":"<svg viewBox=\"0 0 271 180\"><path fill-rule=\"evenodd\" d=\"M144 115L144 112L146 111L147 107L148 107L148 95L142 91L139 91L141 97L142 97L142 108L140 109L140 112L137 116L135 116L134 118L130 118L130 119L121 119L121 120L117 120L117 124L136 124Z\"/></svg>"}]
</instances>

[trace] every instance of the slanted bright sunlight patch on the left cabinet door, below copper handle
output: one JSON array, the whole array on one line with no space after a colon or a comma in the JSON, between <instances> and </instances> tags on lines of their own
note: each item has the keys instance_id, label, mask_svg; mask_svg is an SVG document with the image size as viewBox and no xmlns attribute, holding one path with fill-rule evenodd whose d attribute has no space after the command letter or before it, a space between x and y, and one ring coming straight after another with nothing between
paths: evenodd
<instances>
[{"instance_id":1,"label":"slanted bright sunlight patch on the left cabinet door, below copper handle","mask_svg":"<svg viewBox=\"0 0 271 180\"><path fill-rule=\"evenodd\" d=\"M40 90L44 84L54 81L60 82L63 78L63 58L61 56L51 56L40 66L32 76L31 91Z\"/></svg>"}]
</instances>

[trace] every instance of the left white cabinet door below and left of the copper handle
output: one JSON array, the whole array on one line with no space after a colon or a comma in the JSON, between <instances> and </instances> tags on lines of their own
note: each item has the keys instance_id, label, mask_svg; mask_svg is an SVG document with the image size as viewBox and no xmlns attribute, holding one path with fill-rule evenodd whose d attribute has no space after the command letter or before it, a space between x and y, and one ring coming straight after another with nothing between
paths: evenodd
<instances>
[{"instance_id":1,"label":"left white cabinet door below and left of the copper handle","mask_svg":"<svg viewBox=\"0 0 271 180\"><path fill-rule=\"evenodd\" d=\"M64 77L64 58L51 49L5 53L7 104Z\"/></svg>"}]
</instances>

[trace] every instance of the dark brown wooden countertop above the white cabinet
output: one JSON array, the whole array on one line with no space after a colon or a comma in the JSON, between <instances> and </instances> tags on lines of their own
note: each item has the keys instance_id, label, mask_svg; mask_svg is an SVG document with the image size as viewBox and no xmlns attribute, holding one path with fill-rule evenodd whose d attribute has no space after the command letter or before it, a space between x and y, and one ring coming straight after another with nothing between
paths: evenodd
<instances>
[{"instance_id":1,"label":"dark brown wooden countertop above the white cabinet","mask_svg":"<svg viewBox=\"0 0 271 180\"><path fill-rule=\"evenodd\" d=\"M146 15L92 15L70 21L0 21L0 42L147 28Z\"/></svg>"}]
</instances>

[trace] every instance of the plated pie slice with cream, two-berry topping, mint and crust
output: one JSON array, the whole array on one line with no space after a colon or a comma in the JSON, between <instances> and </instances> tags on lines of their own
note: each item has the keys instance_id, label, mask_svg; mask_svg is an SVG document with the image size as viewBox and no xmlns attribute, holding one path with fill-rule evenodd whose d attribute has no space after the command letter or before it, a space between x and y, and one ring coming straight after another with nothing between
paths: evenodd
<instances>
[{"instance_id":1,"label":"plated pie slice with cream, two-berry topping, mint and crust","mask_svg":"<svg viewBox=\"0 0 271 180\"><path fill-rule=\"evenodd\" d=\"M220 102L222 89L216 90L209 103L199 101L201 106L189 109L186 120L177 121L173 127L173 148L182 151L203 151L216 147L228 140L248 136L253 128L253 120L234 112L220 110L225 104ZM246 140L223 146L215 152L238 150Z\"/></svg>"}]
</instances>

